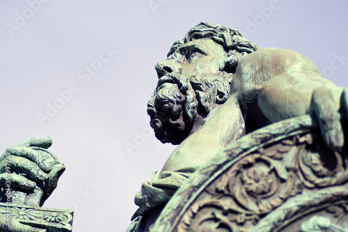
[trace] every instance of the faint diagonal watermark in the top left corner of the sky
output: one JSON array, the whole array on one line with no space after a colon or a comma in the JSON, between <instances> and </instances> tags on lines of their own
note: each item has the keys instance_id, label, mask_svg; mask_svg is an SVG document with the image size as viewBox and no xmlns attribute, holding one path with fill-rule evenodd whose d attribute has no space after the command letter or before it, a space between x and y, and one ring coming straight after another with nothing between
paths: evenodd
<instances>
[{"instance_id":1,"label":"faint diagonal watermark in the top left corner of the sky","mask_svg":"<svg viewBox=\"0 0 348 232\"><path fill-rule=\"evenodd\" d=\"M26 25L28 20L34 17L35 13L38 13L42 9L42 4L47 3L49 0L28 0L26 3L28 7L22 10L22 13L15 12L14 23L6 22L5 27L8 34L13 37L15 31L19 31L23 26Z\"/></svg>"}]
</instances>

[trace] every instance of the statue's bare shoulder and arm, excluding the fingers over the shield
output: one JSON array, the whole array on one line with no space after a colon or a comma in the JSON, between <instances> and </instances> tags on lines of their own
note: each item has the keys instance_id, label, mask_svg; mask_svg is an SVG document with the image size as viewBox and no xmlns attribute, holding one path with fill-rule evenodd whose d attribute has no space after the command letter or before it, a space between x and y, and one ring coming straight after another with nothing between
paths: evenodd
<instances>
[{"instance_id":1,"label":"statue's bare shoulder and arm, excluding the fingers over the shield","mask_svg":"<svg viewBox=\"0 0 348 232\"><path fill-rule=\"evenodd\" d=\"M324 79L309 59L287 49L266 48L239 63L232 91L239 91L242 105L258 107L274 123L310 114L313 91L322 86L331 90L338 109L342 88Z\"/></svg>"}]
</instances>

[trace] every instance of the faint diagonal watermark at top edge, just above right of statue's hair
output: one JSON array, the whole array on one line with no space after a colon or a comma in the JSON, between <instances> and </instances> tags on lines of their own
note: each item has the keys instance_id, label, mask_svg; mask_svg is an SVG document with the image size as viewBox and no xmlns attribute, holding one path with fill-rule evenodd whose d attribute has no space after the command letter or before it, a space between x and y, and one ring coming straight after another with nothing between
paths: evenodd
<instances>
[{"instance_id":1,"label":"faint diagonal watermark at top edge, just above right of statue's hair","mask_svg":"<svg viewBox=\"0 0 348 232\"><path fill-rule=\"evenodd\" d=\"M286 0L284 0L286 1ZM280 2L278 0L269 1L269 6L259 7L258 14L253 17L253 19L248 18L246 20L246 31L242 31L243 36L250 37L253 33L256 33L258 29L264 25L267 20L269 20L274 11L280 9Z\"/></svg>"}]
</instances>

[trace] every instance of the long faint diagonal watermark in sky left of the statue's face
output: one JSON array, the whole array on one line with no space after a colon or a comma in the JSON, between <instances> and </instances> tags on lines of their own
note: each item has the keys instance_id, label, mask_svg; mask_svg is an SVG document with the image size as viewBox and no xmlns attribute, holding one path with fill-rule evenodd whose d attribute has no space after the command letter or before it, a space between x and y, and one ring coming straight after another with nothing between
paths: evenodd
<instances>
[{"instance_id":1,"label":"long faint diagonal watermark in sky left of the statue's face","mask_svg":"<svg viewBox=\"0 0 348 232\"><path fill-rule=\"evenodd\" d=\"M97 73L103 68L103 66L111 61L113 56L117 54L117 50L114 50L111 48L111 45L109 47L102 46L102 52L100 52L97 59L94 59L90 62L89 65L84 65L84 68L81 68L79 71L77 71L77 78L82 82L83 84L87 84L90 82L91 77L97 75ZM37 112L35 114L36 119L38 120L38 123L40 123L41 127L43 127L46 121L50 121L52 117L56 116L58 114L58 110L62 109L65 106L66 102L69 102L73 95L76 93L79 93L81 90L81 84L77 82L71 82L67 88L63 90L56 91L56 98L52 100L51 102L46 102L46 109L44 112Z\"/></svg>"}]
</instances>

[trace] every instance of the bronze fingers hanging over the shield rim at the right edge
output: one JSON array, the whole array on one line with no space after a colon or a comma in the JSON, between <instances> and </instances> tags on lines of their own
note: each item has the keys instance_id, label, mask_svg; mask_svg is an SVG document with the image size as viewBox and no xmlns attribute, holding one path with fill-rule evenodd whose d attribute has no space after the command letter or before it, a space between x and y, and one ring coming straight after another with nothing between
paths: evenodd
<instances>
[{"instance_id":1,"label":"bronze fingers hanging over the shield rim at the right edge","mask_svg":"<svg viewBox=\"0 0 348 232\"><path fill-rule=\"evenodd\" d=\"M326 146L332 150L342 148L344 144L344 135L340 115L348 114L348 88L342 93L340 101L340 111L338 110L337 100L335 100L333 91L330 88L321 87L313 91L310 110L317 118L322 133L322 138Z\"/></svg>"}]
</instances>

